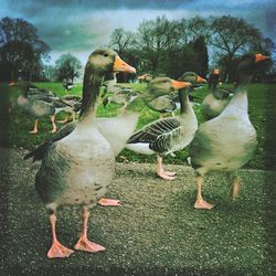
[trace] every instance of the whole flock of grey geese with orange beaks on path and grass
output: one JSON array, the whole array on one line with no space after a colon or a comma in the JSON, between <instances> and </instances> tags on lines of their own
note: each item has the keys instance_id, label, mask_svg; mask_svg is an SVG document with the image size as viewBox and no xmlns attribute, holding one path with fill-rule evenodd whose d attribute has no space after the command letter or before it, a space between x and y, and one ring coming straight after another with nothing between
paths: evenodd
<instances>
[{"instance_id":1,"label":"whole flock of grey geese with orange beaks on path and grass","mask_svg":"<svg viewBox=\"0 0 276 276\"><path fill-rule=\"evenodd\" d=\"M106 250L88 240L87 221L91 208L97 203L119 204L117 200L103 197L114 177L115 156L125 147L144 155L156 153L157 174L162 179L172 180L176 173L163 169L162 158L190 145L191 166L195 171L198 185L194 208L209 210L214 206L202 197L203 178L211 171L229 173L232 195L235 198L241 188L241 179L236 171L251 159L257 146L256 131L247 113L247 86L258 64L266 59L267 56L262 54L246 54L238 60L237 87L234 95L230 98L229 93L223 91L210 91L203 100L204 105L202 104L208 120L200 126L189 100L189 94L197 84L205 83L205 79L191 72L178 81L169 77L152 79L144 75L140 79L148 82L147 89L142 94L135 95L160 113L173 112L178 98L180 104L178 116L159 118L137 131L135 129L139 114L125 110L114 118L97 118L95 113L99 91L106 79L109 77L109 82L113 82L119 72L136 73L134 67L109 49L99 49L89 55L85 66L82 99L45 96L46 92L39 93L38 87L22 89L18 104L36 116L34 132L38 131L36 121L40 116L45 114L51 116L54 132L56 130L54 116L59 108L79 110L78 120L63 126L50 140L24 157L42 161L35 176L35 188L49 211L52 226L52 246L47 256L68 257L73 253L73 250L62 245L56 236L56 210L60 205L83 208L83 229L74 246L75 250L91 253ZM22 87L22 82L15 85ZM44 100L44 97L50 99ZM77 102L78 107L70 100ZM123 104L126 109L126 103ZM44 115L41 115L42 113Z\"/></svg>"}]
</instances>

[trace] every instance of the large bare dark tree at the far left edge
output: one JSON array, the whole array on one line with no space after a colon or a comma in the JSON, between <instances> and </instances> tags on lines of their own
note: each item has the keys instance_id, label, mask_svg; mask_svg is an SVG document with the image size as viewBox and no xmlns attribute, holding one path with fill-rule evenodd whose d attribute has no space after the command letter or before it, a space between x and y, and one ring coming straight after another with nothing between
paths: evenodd
<instances>
[{"instance_id":1,"label":"large bare dark tree at the far left edge","mask_svg":"<svg viewBox=\"0 0 276 276\"><path fill-rule=\"evenodd\" d=\"M36 29L23 19L0 21L0 73L4 79L19 74L30 81L41 61L47 59L49 45L39 39Z\"/></svg>"}]
</instances>

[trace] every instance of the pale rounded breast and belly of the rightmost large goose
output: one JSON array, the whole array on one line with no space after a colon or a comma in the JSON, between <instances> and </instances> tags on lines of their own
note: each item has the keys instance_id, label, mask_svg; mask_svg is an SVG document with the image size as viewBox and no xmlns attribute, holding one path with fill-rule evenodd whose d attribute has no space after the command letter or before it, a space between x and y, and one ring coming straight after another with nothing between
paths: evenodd
<instances>
[{"instance_id":1,"label":"pale rounded breast and belly of the rightmost large goose","mask_svg":"<svg viewBox=\"0 0 276 276\"><path fill-rule=\"evenodd\" d=\"M192 164L233 171L251 159L256 146L256 130L247 118L219 116L199 127L191 144Z\"/></svg>"}]
</instances>

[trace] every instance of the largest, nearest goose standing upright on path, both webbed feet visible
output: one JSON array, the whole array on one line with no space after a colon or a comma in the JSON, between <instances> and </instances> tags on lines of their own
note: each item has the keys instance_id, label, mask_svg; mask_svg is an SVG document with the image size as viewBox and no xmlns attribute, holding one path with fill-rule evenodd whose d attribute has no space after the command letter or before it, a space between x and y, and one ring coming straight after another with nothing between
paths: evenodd
<instances>
[{"instance_id":1,"label":"largest, nearest goose standing upright on path, both webbed feet visible","mask_svg":"<svg viewBox=\"0 0 276 276\"><path fill-rule=\"evenodd\" d=\"M94 51L86 63L83 81L83 100L75 129L52 144L35 176L36 191L50 213L52 246L47 257L68 257L73 250L62 245L56 236L56 209L78 205L83 209L83 229L74 248L96 253L102 245L87 238L89 209L102 198L114 176L114 153L95 123L95 106L106 73L136 70L109 49Z\"/></svg>"}]
</instances>

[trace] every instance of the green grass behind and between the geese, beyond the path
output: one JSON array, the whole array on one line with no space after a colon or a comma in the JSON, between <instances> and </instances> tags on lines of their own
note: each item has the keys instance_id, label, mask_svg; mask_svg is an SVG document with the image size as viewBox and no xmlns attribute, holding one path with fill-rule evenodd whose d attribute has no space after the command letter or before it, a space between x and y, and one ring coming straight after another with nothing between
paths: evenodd
<instances>
[{"instance_id":1,"label":"green grass behind and between the geese, beyond the path","mask_svg":"<svg viewBox=\"0 0 276 276\"><path fill-rule=\"evenodd\" d=\"M57 96L66 94L81 95L82 85L77 84L75 87L67 93L61 83L36 83L39 87L50 89ZM137 91L145 91L145 84L124 84L125 86L132 87ZM274 118L276 115L276 97L275 97L276 85L274 84L253 84L250 86L248 98L250 98L250 117L253 125L257 130L258 147L253 159L246 164L246 168L252 169L276 169L276 128L274 127ZM202 89L197 89L194 95L203 99L206 95L206 86ZM10 88L8 84L0 85L0 139L1 144L7 147L22 147L25 149L34 149L38 145L46 140L52 129L49 118L43 118L40 121L40 132L38 135L30 135L29 130L33 128L33 118L28 117L26 114L21 112L19 108L13 108L8 114L8 106L11 103L15 103L19 92L15 88ZM116 104L109 104L106 108L100 104L97 107L97 116L99 117L113 117L116 116L117 109L120 107ZM158 119L159 114L147 108L141 100L134 102L129 109L140 113L137 128ZM194 106L195 114L199 123L203 121L200 106ZM60 114L57 119L63 119L65 114ZM57 125L61 127L61 125ZM168 156L166 163L183 163L188 157L188 149L176 152L176 157ZM123 150L117 157L117 161L129 160L136 162L155 162L155 156L141 156L129 150Z\"/></svg>"}]
</instances>

